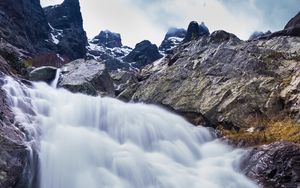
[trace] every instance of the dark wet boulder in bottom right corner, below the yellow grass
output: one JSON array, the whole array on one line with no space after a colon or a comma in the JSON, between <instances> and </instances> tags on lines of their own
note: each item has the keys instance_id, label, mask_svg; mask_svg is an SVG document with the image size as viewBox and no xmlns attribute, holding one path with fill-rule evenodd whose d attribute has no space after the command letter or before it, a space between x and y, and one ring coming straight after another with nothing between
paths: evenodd
<instances>
[{"instance_id":1,"label":"dark wet boulder in bottom right corner, below the yellow grass","mask_svg":"<svg viewBox=\"0 0 300 188\"><path fill-rule=\"evenodd\" d=\"M256 147L245 156L241 169L261 187L299 187L300 145L275 142Z\"/></svg>"}]
</instances>

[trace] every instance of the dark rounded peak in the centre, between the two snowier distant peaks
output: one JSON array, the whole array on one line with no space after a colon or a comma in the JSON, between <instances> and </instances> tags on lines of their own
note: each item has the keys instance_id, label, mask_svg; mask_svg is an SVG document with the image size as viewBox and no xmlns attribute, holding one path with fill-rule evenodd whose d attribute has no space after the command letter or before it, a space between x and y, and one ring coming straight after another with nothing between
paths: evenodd
<instances>
[{"instance_id":1,"label":"dark rounded peak in the centre, between the two snowier distant peaks","mask_svg":"<svg viewBox=\"0 0 300 188\"><path fill-rule=\"evenodd\" d=\"M144 40L138 43L123 60L140 69L161 57L162 55L159 53L157 46L148 40Z\"/></svg>"}]
</instances>

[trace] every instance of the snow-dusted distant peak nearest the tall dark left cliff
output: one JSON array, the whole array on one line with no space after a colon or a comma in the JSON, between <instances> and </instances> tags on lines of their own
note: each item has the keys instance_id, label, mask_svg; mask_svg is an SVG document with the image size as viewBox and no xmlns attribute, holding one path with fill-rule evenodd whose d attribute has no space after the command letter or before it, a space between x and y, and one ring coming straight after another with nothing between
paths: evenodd
<instances>
[{"instance_id":1,"label":"snow-dusted distant peak nearest the tall dark left cliff","mask_svg":"<svg viewBox=\"0 0 300 188\"><path fill-rule=\"evenodd\" d=\"M115 47L123 46L121 42L121 35L119 33L113 33L108 30L101 31L99 35L93 38L91 43L104 46L107 48L115 48Z\"/></svg>"}]
</instances>

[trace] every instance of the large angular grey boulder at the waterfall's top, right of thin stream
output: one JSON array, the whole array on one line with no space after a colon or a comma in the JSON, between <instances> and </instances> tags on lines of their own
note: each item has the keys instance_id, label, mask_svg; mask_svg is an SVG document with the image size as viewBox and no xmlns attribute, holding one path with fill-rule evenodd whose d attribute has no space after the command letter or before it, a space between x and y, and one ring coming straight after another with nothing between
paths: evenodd
<instances>
[{"instance_id":1,"label":"large angular grey boulder at the waterfall's top, right of thin stream","mask_svg":"<svg viewBox=\"0 0 300 188\"><path fill-rule=\"evenodd\" d=\"M95 60L78 59L64 65L61 69L62 76L58 87L74 93L114 96L113 81L104 64Z\"/></svg>"}]
</instances>

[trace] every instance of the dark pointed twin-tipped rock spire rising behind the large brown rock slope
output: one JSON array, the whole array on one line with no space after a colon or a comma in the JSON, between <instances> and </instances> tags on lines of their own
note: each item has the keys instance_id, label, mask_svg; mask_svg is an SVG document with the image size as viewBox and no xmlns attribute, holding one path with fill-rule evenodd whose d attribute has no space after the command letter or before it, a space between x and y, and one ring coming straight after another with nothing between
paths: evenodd
<instances>
[{"instance_id":1,"label":"dark pointed twin-tipped rock spire rising behind the large brown rock slope","mask_svg":"<svg viewBox=\"0 0 300 188\"><path fill-rule=\"evenodd\" d=\"M188 26L187 34L183 42L197 40L201 36L208 36L208 35L209 35L209 30L203 22L199 25L197 22L192 21Z\"/></svg>"}]
</instances>

